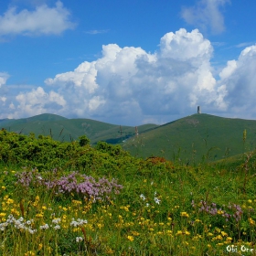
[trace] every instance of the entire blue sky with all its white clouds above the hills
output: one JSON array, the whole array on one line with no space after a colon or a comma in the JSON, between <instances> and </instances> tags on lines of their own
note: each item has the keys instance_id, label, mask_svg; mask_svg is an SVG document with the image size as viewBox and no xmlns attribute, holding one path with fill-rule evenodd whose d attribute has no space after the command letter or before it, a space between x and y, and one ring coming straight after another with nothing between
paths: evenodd
<instances>
[{"instance_id":1,"label":"entire blue sky with all its white clouds above the hills","mask_svg":"<svg viewBox=\"0 0 256 256\"><path fill-rule=\"evenodd\" d=\"M254 0L3 0L0 119L256 119Z\"/></svg>"}]
</instances>

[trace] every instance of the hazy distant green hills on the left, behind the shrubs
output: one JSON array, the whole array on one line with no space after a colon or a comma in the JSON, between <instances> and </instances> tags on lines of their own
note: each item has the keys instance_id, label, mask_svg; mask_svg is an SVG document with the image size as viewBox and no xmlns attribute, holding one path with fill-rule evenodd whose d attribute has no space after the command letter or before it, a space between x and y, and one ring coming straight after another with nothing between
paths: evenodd
<instances>
[{"instance_id":1,"label":"hazy distant green hills on the left, behind the shrubs","mask_svg":"<svg viewBox=\"0 0 256 256\"><path fill-rule=\"evenodd\" d=\"M157 127L155 124L144 124L138 126L138 130L144 132L155 127ZM132 126L102 123L91 119L68 119L49 113L17 120L0 120L0 128L22 134L49 135L63 142L77 140L80 135L86 134L91 144L96 144L98 141L119 144L135 134L135 128Z\"/></svg>"}]
</instances>

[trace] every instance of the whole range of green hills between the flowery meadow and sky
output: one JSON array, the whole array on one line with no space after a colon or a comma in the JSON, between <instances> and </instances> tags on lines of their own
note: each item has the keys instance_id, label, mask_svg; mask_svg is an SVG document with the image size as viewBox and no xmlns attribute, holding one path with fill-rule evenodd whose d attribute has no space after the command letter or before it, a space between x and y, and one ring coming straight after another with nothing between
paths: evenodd
<instances>
[{"instance_id":1,"label":"whole range of green hills between the flowery meadow and sky","mask_svg":"<svg viewBox=\"0 0 256 256\"><path fill-rule=\"evenodd\" d=\"M137 127L102 123L91 119L68 119L56 114L40 114L23 119L0 120L0 129L16 133L49 135L55 140L78 140L86 134L91 144L104 141L121 144L132 155L163 156L191 164L220 160L256 148L256 121L193 114L164 125L144 124ZM243 142L243 132L247 138Z\"/></svg>"}]
</instances>

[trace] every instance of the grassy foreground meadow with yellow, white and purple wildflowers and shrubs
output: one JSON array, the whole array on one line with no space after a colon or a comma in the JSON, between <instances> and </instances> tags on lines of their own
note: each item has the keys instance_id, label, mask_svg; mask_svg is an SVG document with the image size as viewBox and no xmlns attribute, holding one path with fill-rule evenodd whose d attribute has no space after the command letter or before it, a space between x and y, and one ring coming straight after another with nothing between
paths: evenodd
<instances>
[{"instance_id":1,"label":"grassy foreground meadow with yellow, white and purple wildflowers and shrubs","mask_svg":"<svg viewBox=\"0 0 256 256\"><path fill-rule=\"evenodd\" d=\"M242 164L138 159L0 131L0 255L255 255L253 153Z\"/></svg>"}]
</instances>

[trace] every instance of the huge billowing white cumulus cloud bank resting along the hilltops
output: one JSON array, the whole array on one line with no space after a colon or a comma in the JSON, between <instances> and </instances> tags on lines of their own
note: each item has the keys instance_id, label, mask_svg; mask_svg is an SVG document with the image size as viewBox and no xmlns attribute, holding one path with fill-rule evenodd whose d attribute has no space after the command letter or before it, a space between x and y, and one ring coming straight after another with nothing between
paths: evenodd
<instances>
[{"instance_id":1,"label":"huge billowing white cumulus cloud bank resting along the hilltops","mask_svg":"<svg viewBox=\"0 0 256 256\"><path fill-rule=\"evenodd\" d=\"M44 88L9 95L3 85L0 118L52 112L138 125L170 122L197 112L197 105L203 112L256 118L256 46L229 60L218 80L210 63L211 43L197 29L167 33L159 46L148 53L109 44L102 46L101 58L46 79Z\"/></svg>"}]
</instances>

